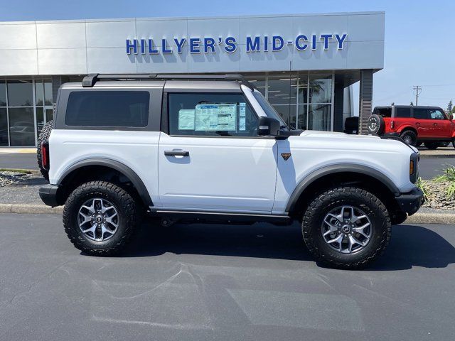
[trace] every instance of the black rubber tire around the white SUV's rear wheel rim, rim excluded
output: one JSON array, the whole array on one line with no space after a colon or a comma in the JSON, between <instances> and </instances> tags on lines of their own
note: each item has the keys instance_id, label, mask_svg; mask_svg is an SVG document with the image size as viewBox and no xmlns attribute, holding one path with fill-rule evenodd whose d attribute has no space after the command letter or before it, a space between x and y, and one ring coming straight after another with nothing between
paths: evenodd
<instances>
[{"instance_id":1,"label":"black rubber tire around the white SUV's rear wheel rim, rim excluded","mask_svg":"<svg viewBox=\"0 0 455 341\"><path fill-rule=\"evenodd\" d=\"M109 200L119 215L119 226L115 234L103 241L95 242L82 233L77 222L80 207L90 198ZM77 187L66 200L63 209L63 226L70 241L77 249L92 256L118 254L132 239L140 223L140 212L134 199L123 188L105 181L90 181Z\"/></svg>"}]
</instances>

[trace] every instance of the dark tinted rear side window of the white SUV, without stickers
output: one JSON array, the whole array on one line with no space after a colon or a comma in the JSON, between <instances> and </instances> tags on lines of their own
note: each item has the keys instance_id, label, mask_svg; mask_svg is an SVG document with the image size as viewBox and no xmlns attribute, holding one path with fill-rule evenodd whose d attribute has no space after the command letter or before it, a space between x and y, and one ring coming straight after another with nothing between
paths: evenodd
<instances>
[{"instance_id":1,"label":"dark tinted rear side window of the white SUV, without stickers","mask_svg":"<svg viewBox=\"0 0 455 341\"><path fill-rule=\"evenodd\" d=\"M67 126L146 126L150 94L146 91L75 91L66 108Z\"/></svg>"}]
</instances>

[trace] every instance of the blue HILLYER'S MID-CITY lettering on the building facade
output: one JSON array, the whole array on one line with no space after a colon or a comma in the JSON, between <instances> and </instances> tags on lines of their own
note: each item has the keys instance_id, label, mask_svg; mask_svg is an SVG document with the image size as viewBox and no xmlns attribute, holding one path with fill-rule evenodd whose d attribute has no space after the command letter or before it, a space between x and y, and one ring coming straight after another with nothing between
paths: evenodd
<instances>
[{"instance_id":1,"label":"blue HILLYER'S MID-CITY lettering on the building facade","mask_svg":"<svg viewBox=\"0 0 455 341\"><path fill-rule=\"evenodd\" d=\"M286 40L282 36L247 36L245 39L246 52L277 52L283 50L285 45L294 46L296 50L317 50L318 43L321 43L323 50L328 50L329 43L333 42L336 49L343 50L343 44L348 35L338 34L313 34L305 36L299 34L291 40ZM188 45L190 53L216 53L218 45L227 53L235 53L239 42L235 37L211 38L211 37L192 37L192 38L161 38L155 40L148 39L127 39L127 54L156 55L159 53L182 53L183 46ZM335 47L334 47L335 48Z\"/></svg>"}]
</instances>

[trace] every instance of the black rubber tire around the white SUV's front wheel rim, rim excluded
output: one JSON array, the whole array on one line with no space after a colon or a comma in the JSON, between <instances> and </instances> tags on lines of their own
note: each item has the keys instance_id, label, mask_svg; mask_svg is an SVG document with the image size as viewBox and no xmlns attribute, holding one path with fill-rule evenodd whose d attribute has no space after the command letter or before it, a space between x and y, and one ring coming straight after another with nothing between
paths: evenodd
<instances>
[{"instance_id":1,"label":"black rubber tire around the white SUV's front wheel rim, rim excluded","mask_svg":"<svg viewBox=\"0 0 455 341\"><path fill-rule=\"evenodd\" d=\"M322 222L328 212L336 207L358 207L370 218L373 232L370 242L360 251L342 254L332 249L322 236ZM387 247L391 235L391 222L385 205L366 190L355 187L340 187L327 190L309 204L301 224L304 242L316 258L338 269L360 269L370 264Z\"/></svg>"}]
</instances>

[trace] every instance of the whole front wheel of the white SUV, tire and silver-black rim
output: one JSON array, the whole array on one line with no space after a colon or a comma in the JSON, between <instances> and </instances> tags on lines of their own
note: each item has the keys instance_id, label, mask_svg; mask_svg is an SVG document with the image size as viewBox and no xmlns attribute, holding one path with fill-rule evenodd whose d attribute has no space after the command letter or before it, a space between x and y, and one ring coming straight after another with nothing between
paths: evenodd
<instances>
[{"instance_id":1,"label":"whole front wheel of the white SUV, tire and silver-black rim","mask_svg":"<svg viewBox=\"0 0 455 341\"><path fill-rule=\"evenodd\" d=\"M382 202L366 190L340 187L316 197L304 213L304 241L316 260L358 269L380 256L391 222Z\"/></svg>"}]
</instances>

